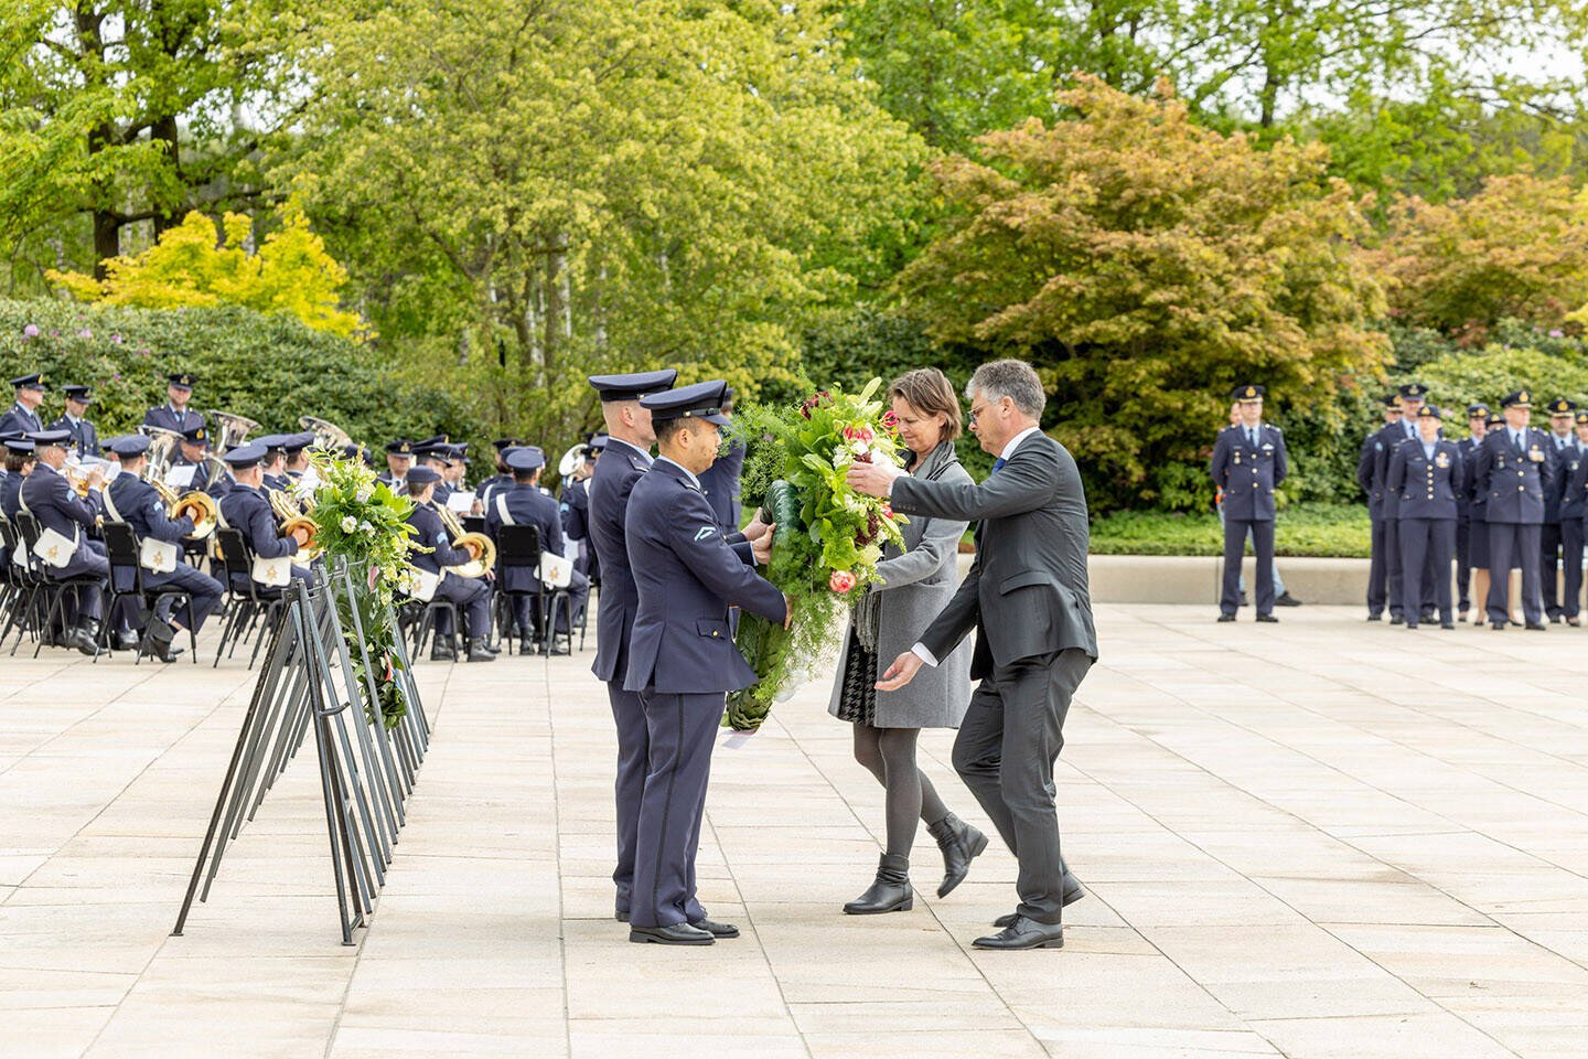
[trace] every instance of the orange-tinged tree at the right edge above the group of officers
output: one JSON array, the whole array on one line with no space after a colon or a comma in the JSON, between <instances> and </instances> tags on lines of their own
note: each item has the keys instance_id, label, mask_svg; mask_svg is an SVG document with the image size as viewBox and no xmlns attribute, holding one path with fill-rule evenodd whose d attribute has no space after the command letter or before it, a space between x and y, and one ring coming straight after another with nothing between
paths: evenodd
<instances>
[{"instance_id":1,"label":"orange-tinged tree at the right edge above the group of officers","mask_svg":"<svg viewBox=\"0 0 1588 1059\"><path fill-rule=\"evenodd\" d=\"M1402 322L1480 343L1505 318L1559 327L1588 302L1588 211L1564 179L1494 176L1470 198L1404 198L1369 259Z\"/></svg>"}]
</instances>

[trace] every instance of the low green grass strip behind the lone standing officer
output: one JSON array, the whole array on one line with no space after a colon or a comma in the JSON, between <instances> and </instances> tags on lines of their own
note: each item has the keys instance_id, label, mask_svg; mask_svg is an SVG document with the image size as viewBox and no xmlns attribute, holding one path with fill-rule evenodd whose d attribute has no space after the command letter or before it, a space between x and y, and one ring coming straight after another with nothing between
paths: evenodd
<instances>
[{"instance_id":1,"label":"low green grass strip behind the lone standing officer","mask_svg":"<svg viewBox=\"0 0 1588 1059\"><path fill-rule=\"evenodd\" d=\"M1294 503L1278 516L1280 556L1367 557L1372 527L1366 505ZM1099 556L1220 556L1224 537L1216 514L1116 511L1093 522Z\"/></svg>"}]
</instances>

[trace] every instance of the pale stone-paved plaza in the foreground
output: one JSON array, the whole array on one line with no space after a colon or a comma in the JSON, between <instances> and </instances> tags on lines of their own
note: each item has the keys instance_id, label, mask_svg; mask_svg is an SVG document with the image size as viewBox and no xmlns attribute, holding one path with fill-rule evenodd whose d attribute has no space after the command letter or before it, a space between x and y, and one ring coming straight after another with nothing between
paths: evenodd
<instances>
[{"instance_id":1,"label":"pale stone-paved plaza in the foreground","mask_svg":"<svg viewBox=\"0 0 1588 1059\"><path fill-rule=\"evenodd\" d=\"M1588 633L1213 614L1099 607L1058 778L1091 895L1031 953L970 948L1015 900L996 840L939 900L923 829L915 910L838 913L881 792L826 686L716 753L702 899L743 937L630 945L589 651L419 667L435 738L356 946L311 746L170 937L252 675L0 656L0 1056L1585 1054ZM988 827L950 740L924 767Z\"/></svg>"}]
</instances>

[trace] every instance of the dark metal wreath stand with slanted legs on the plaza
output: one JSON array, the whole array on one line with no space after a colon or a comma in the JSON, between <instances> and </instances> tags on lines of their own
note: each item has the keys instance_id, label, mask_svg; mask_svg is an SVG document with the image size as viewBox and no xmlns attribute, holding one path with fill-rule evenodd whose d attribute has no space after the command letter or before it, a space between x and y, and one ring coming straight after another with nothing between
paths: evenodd
<instances>
[{"instance_id":1,"label":"dark metal wreath stand with slanted legs on the plaza","mask_svg":"<svg viewBox=\"0 0 1588 1059\"><path fill-rule=\"evenodd\" d=\"M210 899L227 843L237 840L245 821L254 819L310 729L319 757L343 945L353 945L354 929L367 926L386 883L397 832L405 822L403 802L413 792L430 743L430 724L400 635L394 638L400 660L395 680L407 699L407 711L389 730L378 713L372 722L364 703L378 703L380 697L353 597L353 575L345 560L319 575L313 591L297 578L283 589L283 607L270 632L265 665L254 684L243 730L237 735L210 829L172 930L176 937L183 934L194 897ZM348 613L353 614L353 633L364 662L362 686L343 637L338 599L349 603ZM387 618L395 627L391 611Z\"/></svg>"}]
</instances>

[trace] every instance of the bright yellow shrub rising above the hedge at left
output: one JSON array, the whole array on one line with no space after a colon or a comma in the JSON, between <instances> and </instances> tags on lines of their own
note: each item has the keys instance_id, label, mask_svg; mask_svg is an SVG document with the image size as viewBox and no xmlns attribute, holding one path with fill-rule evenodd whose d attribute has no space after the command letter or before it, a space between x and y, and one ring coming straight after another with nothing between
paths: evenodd
<instances>
[{"instance_id":1,"label":"bright yellow shrub rising above the hedge at left","mask_svg":"<svg viewBox=\"0 0 1588 1059\"><path fill-rule=\"evenodd\" d=\"M252 227L251 218L227 213L218 238L214 221L194 211L141 254L106 262L103 279L75 271L48 275L84 302L138 308L243 305L297 316L314 330L356 337L359 316L345 311L337 298L348 271L310 229L299 202L287 200L279 227L265 235L257 252L248 251Z\"/></svg>"}]
</instances>

